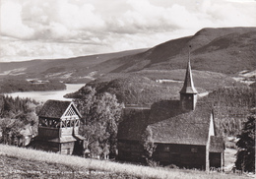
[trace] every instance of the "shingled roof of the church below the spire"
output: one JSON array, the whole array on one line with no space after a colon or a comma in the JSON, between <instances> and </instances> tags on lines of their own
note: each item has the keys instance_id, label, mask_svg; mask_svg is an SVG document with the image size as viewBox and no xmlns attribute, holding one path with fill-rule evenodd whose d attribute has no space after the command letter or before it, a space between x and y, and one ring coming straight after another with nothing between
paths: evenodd
<instances>
[{"instance_id":1,"label":"shingled roof of the church below the spire","mask_svg":"<svg viewBox=\"0 0 256 179\"><path fill-rule=\"evenodd\" d=\"M118 139L140 141L149 126L155 143L206 145L211 112L210 107L199 102L196 110L181 113L178 101L161 101L147 115L141 111L125 119L120 124Z\"/></svg>"}]
</instances>

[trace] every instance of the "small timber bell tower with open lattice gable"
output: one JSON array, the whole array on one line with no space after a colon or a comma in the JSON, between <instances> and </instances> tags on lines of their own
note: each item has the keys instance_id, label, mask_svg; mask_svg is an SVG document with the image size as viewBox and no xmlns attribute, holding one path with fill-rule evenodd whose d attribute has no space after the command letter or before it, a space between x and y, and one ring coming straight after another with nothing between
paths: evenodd
<instances>
[{"instance_id":1,"label":"small timber bell tower with open lattice gable","mask_svg":"<svg viewBox=\"0 0 256 179\"><path fill-rule=\"evenodd\" d=\"M71 101L47 100L38 113L38 135L31 147L82 155L84 138L78 134L81 114Z\"/></svg>"}]
</instances>

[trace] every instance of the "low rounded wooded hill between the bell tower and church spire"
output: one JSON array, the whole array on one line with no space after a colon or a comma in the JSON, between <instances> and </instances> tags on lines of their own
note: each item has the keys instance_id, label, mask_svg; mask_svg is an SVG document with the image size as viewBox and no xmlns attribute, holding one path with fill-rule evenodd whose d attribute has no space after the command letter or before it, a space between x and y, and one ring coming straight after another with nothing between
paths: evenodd
<instances>
[{"instance_id":1,"label":"low rounded wooded hill between the bell tower and church spire","mask_svg":"<svg viewBox=\"0 0 256 179\"><path fill-rule=\"evenodd\" d=\"M142 105L150 105L159 100L177 97L177 91L181 89L179 83L160 84L147 77L140 76L118 78L110 82L92 82L87 84L87 87L96 89L98 93L109 92L115 94L120 103ZM84 89L87 87L84 87ZM65 97L79 98L80 90L67 94Z\"/></svg>"}]
</instances>

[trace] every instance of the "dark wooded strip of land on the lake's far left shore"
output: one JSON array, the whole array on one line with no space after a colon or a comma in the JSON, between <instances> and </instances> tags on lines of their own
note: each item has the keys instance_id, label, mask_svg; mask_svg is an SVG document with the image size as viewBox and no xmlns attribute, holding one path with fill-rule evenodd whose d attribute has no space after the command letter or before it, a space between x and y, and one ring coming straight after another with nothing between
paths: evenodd
<instances>
[{"instance_id":1,"label":"dark wooded strip of land on the lake's far left shore","mask_svg":"<svg viewBox=\"0 0 256 179\"><path fill-rule=\"evenodd\" d=\"M0 92L16 92L31 90L57 90L66 89L65 84L59 81L50 80L43 83L27 81L25 79L2 79L0 83Z\"/></svg>"}]
</instances>

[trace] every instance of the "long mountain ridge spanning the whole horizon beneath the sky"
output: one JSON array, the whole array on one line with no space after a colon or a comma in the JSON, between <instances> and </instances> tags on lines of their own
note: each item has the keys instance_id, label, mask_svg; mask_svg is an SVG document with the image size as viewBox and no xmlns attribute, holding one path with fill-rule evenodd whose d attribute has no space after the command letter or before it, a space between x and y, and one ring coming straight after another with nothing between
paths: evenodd
<instances>
[{"instance_id":1,"label":"long mountain ridge spanning the whole horizon beneath the sky","mask_svg":"<svg viewBox=\"0 0 256 179\"><path fill-rule=\"evenodd\" d=\"M0 63L0 78L57 79L87 83L108 73L184 69L191 48L194 70L237 77L256 66L256 28L203 29L150 49L98 54L69 59Z\"/></svg>"}]
</instances>

